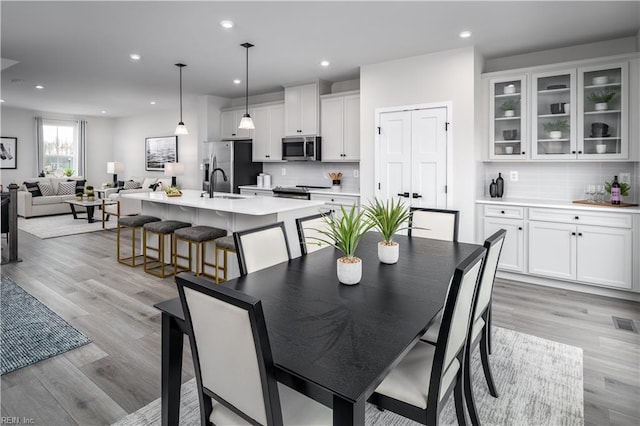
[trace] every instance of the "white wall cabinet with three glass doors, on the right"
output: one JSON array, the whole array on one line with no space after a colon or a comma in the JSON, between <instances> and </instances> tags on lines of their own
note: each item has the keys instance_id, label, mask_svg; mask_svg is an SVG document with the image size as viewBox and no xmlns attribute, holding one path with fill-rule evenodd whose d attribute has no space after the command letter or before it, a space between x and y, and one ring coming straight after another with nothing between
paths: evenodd
<instances>
[{"instance_id":1,"label":"white wall cabinet with three glass doors, on the right","mask_svg":"<svg viewBox=\"0 0 640 426\"><path fill-rule=\"evenodd\" d=\"M637 68L631 67L636 74ZM488 158L601 161L637 156L629 149L628 117L630 104L637 110L640 96L629 90L629 69L627 61L592 60L504 77L493 74Z\"/></svg>"}]
</instances>

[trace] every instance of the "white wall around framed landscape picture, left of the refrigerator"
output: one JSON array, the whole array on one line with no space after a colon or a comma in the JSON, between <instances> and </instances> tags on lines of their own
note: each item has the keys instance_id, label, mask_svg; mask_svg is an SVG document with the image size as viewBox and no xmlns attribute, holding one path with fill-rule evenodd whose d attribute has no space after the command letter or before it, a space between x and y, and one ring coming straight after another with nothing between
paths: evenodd
<instances>
[{"instance_id":1,"label":"white wall around framed landscape picture, left of the refrigerator","mask_svg":"<svg viewBox=\"0 0 640 426\"><path fill-rule=\"evenodd\" d=\"M197 109L195 96L183 98L183 121L189 134L178 136L178 162L185 164L185 175L177 178L178 186L182 188L200 188ZM145 170L145 138L173 135L178 119L177 108L115 119L113 156L109 161L124 163L124 173L118 177L164 178L163 172Z\"/></svg>"}]
</instances>

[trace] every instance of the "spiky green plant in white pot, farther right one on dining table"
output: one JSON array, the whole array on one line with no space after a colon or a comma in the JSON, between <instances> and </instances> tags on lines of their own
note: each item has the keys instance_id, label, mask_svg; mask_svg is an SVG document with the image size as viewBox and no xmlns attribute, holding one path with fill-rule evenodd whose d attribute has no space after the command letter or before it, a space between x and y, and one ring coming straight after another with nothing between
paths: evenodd
<instances>
[{"instance_id":1,"label":"spiky green plant in white pot, farther right one on dining table","mask_svg":"<svg viewBox=\"0 0 640 426\"><path fill-rule=\"evenodd\" d=\"M375 229L382 234L383 240L378 243L378 259L382 263L396 263L400 256L400 245L393 241L393 236L409 227L411 211L400 200L382 202L376 198L364 207L364 212Z\"/></svg>"}]
</instances>

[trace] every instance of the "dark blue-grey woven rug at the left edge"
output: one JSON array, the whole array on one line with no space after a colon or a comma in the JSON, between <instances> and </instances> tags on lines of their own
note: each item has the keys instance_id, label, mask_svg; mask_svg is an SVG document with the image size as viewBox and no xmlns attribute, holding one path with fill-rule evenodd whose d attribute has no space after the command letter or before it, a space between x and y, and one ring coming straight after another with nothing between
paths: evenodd
<instances>
[{"instance_id":1,"label":"dark blue-grey woven rug at the left edge","mask_svg":"<svg viewBox=\"0 0 640 426\"><path fill-rule=\"evenodd\" d=\"M8 277L0 295L2 375L91 343Z\"/></svg>"}]
</instances>

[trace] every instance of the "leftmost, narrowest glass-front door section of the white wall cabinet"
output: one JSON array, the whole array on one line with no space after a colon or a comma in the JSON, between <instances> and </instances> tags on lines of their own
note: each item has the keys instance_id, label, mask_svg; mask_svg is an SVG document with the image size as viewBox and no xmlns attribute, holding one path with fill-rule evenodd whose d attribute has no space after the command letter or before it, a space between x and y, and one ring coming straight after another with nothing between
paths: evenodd
<instances>
[{"instance_id":1,"label":"leftmost, narrowest glass-front door section of the white wall cabinet","mask_svg":"<svg viewBox=\"0 0 640 426\"><path fill-rule=\"evenodd\" d=\"M490 82L489 158L527 158L526 76L493 79Z\"/></svg>"}]
</instances>

